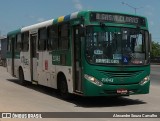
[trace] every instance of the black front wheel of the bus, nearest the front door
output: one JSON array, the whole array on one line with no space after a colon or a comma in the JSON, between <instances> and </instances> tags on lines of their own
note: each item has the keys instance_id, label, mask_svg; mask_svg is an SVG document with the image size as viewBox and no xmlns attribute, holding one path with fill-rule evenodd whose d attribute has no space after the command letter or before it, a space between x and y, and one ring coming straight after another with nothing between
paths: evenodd
<instances>
[{"instance_id":1,"label":"black front wheel of the bus, nearest the front door","mask_svg":"<svg viewBox=\"0 0 160 121\"><path fill-rule=\"evenodd\" d=\"M63 99L69 98L67 79L63 72L57 74L57 89Z\"/></svg>"}]
</instances>

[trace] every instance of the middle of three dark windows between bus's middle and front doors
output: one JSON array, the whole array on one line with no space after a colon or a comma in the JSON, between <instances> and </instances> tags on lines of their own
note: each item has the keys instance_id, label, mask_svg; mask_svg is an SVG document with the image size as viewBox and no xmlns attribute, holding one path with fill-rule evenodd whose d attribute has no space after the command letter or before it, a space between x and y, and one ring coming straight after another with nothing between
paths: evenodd
<instances>
[{"instance_id":1,"label":"middle of three dark windows between bus's middle and front doors","mask_svg":"<svg viewBox=\"0 0 160 121\"><path fill-rule=\"evenodd\" d=\"M57 50L58 49L58 26L48 27L48 41L47 41L48 50Z\"/></svg>"}]
</instances>

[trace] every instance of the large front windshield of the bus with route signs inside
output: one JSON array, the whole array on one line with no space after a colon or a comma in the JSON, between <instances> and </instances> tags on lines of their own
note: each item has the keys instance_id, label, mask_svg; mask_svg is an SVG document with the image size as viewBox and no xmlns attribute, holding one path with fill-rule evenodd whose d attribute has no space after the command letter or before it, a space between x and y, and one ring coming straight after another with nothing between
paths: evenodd
<instances>
[{"instance_id":1,"label":"large front windshield of the bus with route signs inside","mask_svg":"<svg viewBox=\"0 0 160 121\"><path fill-rule=\"evenodd\" d=\"M148 64L148 36L139 28L88 26L86 59L99 65Z\"/></svg>"}]
</instances>

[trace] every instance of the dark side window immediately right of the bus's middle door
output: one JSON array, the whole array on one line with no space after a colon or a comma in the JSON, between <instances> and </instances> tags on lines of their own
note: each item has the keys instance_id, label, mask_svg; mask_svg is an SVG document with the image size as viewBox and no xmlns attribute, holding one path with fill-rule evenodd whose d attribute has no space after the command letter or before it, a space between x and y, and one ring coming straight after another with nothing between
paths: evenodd
<instances>
[{"instance_id":1,"label":"dark side window immediately right of the bus's middle door","mask_svg":"<svg viewBox=\"0 0 160 121\"><path fill-rule=\"evenodd\" d=\"M39 51L46 50L47 29L46 28L40 29L38 34L39 34L38 50Z\"/></svg>"}]
</instances>

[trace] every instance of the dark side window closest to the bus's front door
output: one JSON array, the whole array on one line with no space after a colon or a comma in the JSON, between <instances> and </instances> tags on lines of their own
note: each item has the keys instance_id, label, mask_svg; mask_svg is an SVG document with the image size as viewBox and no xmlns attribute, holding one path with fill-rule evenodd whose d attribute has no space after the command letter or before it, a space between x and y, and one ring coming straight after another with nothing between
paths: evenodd
<instances>
[{"instance_id":1,"label":"dark side window closest to the bus's front door","mask_svg":"<svg viewBox=\"0 0 160 121\"><path fill-rule=\"evenodd\" d=\"M60 25L59 34L59 48L62 50L67 50L69 48L69 25Z\"/></svg>"}]
</instances>

